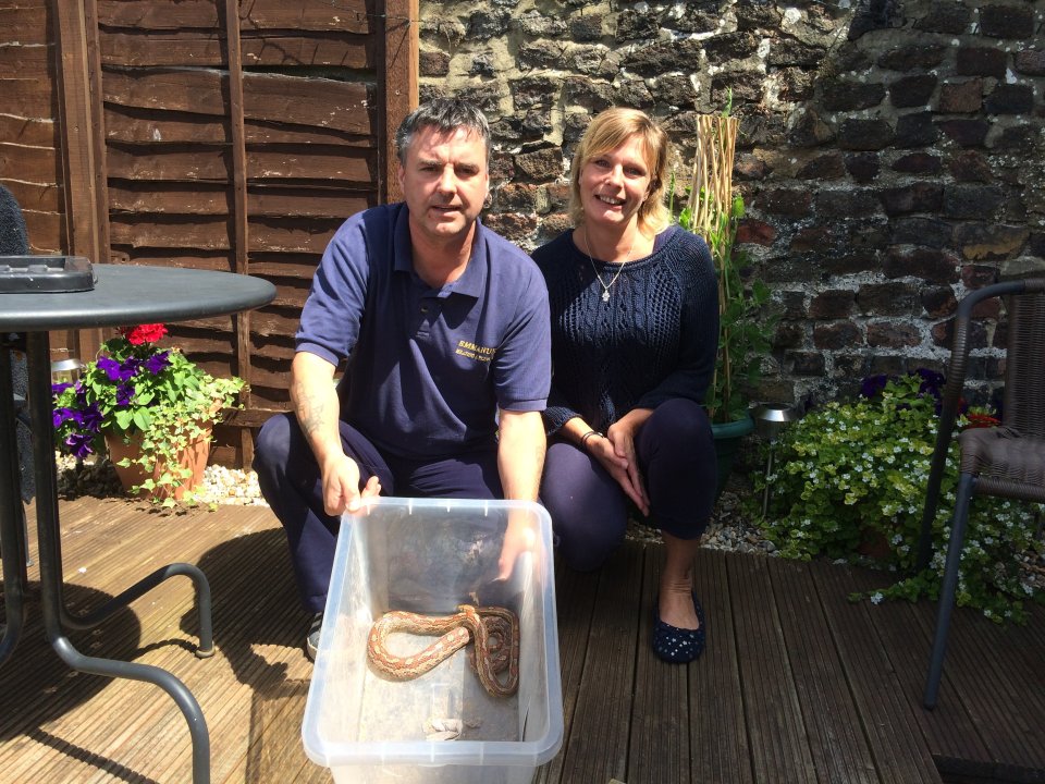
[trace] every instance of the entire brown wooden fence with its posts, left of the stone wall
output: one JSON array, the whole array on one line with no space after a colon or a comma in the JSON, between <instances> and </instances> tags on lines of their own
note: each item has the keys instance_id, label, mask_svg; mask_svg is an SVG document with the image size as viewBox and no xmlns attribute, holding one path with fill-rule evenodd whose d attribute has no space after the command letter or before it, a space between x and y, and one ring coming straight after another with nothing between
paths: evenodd
<instances>
[{"instance_id":1,"label":"entire brown wooden fence with its posts, left of the stone wall","mask_svg":"<svg viewBox=\"0 0 1045 784\"><path fill-rule=\"evenodd\" d=\"M34 253L271 280L266 308L169 339L248 380L235 425L256 427L288 405L331 235L395 195L417 35L416 0L0 0L0 182ZM103 335L85 332L52 342L86 356ZM219 439L219 461L249 458L235 427Z\"/></svg>"}]
</instances>

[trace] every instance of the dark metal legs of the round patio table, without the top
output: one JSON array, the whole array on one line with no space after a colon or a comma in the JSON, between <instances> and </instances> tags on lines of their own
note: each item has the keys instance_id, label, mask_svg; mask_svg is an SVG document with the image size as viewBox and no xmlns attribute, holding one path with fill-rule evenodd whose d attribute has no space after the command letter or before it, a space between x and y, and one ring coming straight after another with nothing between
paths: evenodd
<instances>
[{"instance_id":1,"label":"dark metal legs of the round patio table, without the top","mask_svg":"<svg viewBox=\"0 0 1045 784\"><path fill-rule=\"evenodd\" d=\"M50 350L47 332L30 332L27 338L30 390L50 389ZM30 394L33 449L36 468L37 530L40 552L40 597L47 639L70 667L107 677L131 678L155 684L167 691L188 722L193 742L193 782L210 782L210 735L207 721L196 698L174 675L150 664L124 662L84 656L66 637L66 629L91 628L116 610L142 597L170 577L183 575L193 580L199 610L199 647L196 656L213 654L210 585L204 573L187 563L175 563L157 569L106 602L83 615L73 615L65 607L62 581L61 536L58 522L58 479L54 468L54 436L49 396ZM11 363L7 350L0 350L0 548L4 577L7 625L0 639L0 665L14 651L25 623L26 548L24 507L19 492L17 449L14 438L14 397ZM7 480L4 480L4 477Z\"/></svg>"}]
</instances>

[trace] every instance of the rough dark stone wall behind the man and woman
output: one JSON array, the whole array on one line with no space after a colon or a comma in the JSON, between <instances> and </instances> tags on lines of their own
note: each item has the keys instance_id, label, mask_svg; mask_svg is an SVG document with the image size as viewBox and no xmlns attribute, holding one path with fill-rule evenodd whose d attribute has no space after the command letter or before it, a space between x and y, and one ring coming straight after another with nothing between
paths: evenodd
<instances>
[{"instance_id":1,"label":"rough dark stone wall behind the man and woman","mask_svg":"<svg viewBox=\"0 0 1045 784\"><path fill-rule=\"evenodd\" d=\"M421 3L422 98L457 93L496 139L485 221L526 248L568 225L592 114L657 118L678 148L732 91L749 274L782 315L760 396L944 369L964 292L1045 273L1045 1ZM974 335L976 396L1004 314Z\"/></svg>"}]
</instances>

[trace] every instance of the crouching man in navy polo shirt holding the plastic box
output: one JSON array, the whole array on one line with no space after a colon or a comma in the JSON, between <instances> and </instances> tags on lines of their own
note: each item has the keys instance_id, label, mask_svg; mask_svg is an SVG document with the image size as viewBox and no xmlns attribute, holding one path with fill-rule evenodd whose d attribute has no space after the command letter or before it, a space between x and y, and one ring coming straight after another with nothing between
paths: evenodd
<instances>
[{"instance_id":1,"label":"crouching man in navy polo shirt holding the plastic box","mask_svg":"<svg viewBox=\"0 0 1045 784\"><path fill-rule=\"evenodd\" d=\"M310 658L343 512L381 492L532 501L544 461L548 291L478 220L487 120L440 98L395 143L405 201L353 216L331 240L295 338L294 413L266 422L254 462L315 613Z\"/></svg>"}]
</instances>

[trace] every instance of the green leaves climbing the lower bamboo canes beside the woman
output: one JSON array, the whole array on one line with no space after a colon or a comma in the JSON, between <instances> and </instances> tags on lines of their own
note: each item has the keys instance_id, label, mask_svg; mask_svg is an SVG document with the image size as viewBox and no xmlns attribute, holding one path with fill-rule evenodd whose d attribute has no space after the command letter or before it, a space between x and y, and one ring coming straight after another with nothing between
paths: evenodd
<instances>
[{"instance_id":1,"label":"green leaves climbing the lower bamboo canes beside the woman","mask_svg":"<svg viewBox=\"0 0 1045 784\"><path fill-rule=\"evenodd\" d=\"M754 389L762 378L762 359L772 348L777 322L776 317L763 313L770 302L770 287L761 280L745 285L741 277L747 254L735 243L743 211L743 198L736 196L729 211L720 211L713 228L703 234L718 275L718 358L705 401L714 422L735 421L746 415L745 391ZM678 223L693 230L688 207L679 213Z\"/></svg>"}]
</instances>

